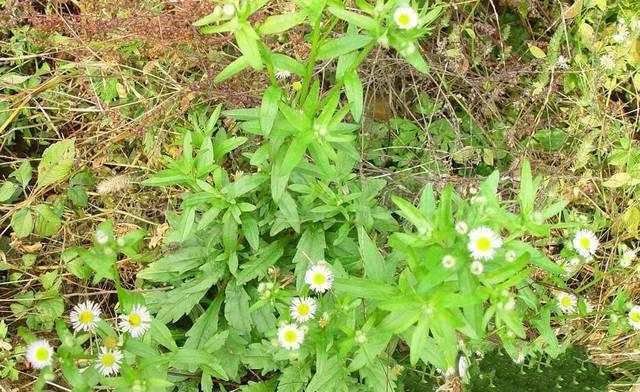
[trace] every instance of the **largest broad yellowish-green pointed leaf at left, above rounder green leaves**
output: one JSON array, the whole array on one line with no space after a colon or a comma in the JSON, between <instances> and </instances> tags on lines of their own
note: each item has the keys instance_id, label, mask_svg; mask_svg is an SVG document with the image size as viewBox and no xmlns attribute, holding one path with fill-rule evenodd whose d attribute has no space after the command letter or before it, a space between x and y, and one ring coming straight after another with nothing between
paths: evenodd
<instances>
[{"instance_id":1,"label":"largest broad yellowish-green pointed leaf at left, above rounder green leaves","mask_svg":"<svg viewBox=\"0 0 640 392\"><path fill-rule=\"evenodd\" d=\"M64 179L73 168L75 156L74 139L62 140L47 147L38 165L36 188L41 189Z\"/></svg>"}]
</instances>

